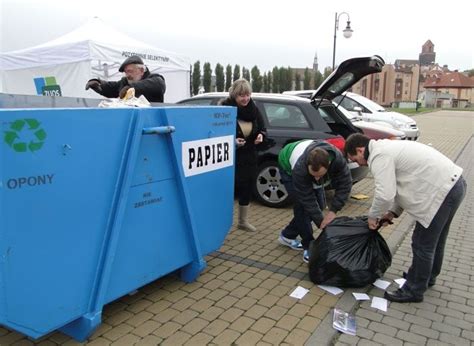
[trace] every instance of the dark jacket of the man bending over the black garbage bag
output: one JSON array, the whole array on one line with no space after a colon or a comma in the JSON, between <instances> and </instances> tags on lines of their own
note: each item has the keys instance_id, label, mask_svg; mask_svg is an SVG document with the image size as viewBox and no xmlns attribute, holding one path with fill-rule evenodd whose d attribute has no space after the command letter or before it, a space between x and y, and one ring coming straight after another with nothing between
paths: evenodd
<instances>
[{"instance_id":1,"label":"dark jacket of the man bending over the black garbage bag","mask_svg":"<svg viewBox=\"0 0 474 346\"><path fill-rule=\"evenodd\" d=\"M295 198L303 205L311 220L319 227L323 221L322 211L319 209L316 196L313 191L315 179L308 173L308 155L314 148L326 150L331 157L328 172L321 178L331 180L331 185L335 189L330 210L338 212L344 207L352 188L352 177L347 161L336 147L324 141L314 141L296 161L291 177L295 188Z\"/></svg>"}]
</instances>

